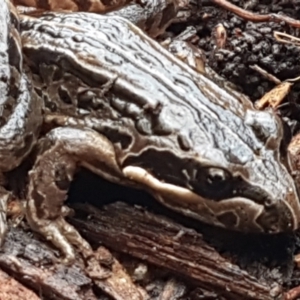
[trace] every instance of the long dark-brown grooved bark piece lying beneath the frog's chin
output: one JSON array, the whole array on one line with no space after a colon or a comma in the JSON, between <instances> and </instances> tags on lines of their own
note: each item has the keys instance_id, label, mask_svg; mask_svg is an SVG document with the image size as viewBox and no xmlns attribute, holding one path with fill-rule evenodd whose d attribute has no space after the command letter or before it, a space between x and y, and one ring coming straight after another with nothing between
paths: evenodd
<instances>
[{"instance_id":1,"label":"long dark-brown grooved bark piece lying beneath the frog's chin","mask_svg":"<svg viewBox=\"0 0 300 300\"><path fill-rule=\"evenodd\" d=\"M115 251L164 267L220 297L263 300L282 293L279 284L249 275L209 246L202 235L166 218L120 202L101 210L76 205L76 211L71 222L89 241L101 241Z\"/></svg>"}]
</instances>

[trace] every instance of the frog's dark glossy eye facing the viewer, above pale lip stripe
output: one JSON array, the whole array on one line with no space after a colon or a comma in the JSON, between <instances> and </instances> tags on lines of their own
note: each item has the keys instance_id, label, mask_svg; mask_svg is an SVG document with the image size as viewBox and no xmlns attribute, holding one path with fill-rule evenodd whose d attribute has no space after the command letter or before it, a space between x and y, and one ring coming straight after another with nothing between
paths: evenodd
<instances>
[{"instance_id":1,"label":"frog's dark glossy eye facing the viewer, above pale lip stripe","mask_svg":"<svg viewBox=\"0 0 300 300\"><path fill-rule=\"evenodd\" d=\"M232 177L221 168L201 168L191 185L201 196L221 200L232 192Z\"/></svg>"}]
</instances>

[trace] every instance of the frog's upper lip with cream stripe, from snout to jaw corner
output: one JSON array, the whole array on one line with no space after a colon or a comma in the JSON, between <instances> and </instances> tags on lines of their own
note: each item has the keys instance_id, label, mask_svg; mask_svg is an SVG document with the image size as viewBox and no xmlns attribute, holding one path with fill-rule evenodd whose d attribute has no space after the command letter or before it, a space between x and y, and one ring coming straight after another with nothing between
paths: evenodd
<instances>
[{"instance_id":1,"label":"frog's upper lip with cream stripe, from snout to jaw corner","mask_svg":"<svg viewBox=\"0 0 300 300\"><path fill-rule=\"evenodd\" d=\"M165 206L204 223L236 231L265 233L292 231L298 227L292 209L284 201L270 207L244 197L216 202L186 188L161 182L140 167L128 166L123 173Z\"/></svg>"}]
</instances>

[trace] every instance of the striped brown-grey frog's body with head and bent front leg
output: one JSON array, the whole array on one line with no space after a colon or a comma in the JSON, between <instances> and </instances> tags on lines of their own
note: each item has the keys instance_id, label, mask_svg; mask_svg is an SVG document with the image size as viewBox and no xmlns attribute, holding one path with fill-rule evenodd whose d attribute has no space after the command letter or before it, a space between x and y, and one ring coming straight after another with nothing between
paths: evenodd
<instances>
[{"instance_id":1,"label":"striped brown-grey frog's body with head and bent front leg","mask_svg":"<svg viewBox=\"0 0 300 300\"><path fill-rule=\"evenodd\" d=\"M81 166L216 226L266 233L299 227L275 114L254 111L123 18L23 16L21 38L45 122L58 126L38 144L26 215L66 261L75 257L73 246L92 253L64 220Z\"/></svg>"}]
</instances>

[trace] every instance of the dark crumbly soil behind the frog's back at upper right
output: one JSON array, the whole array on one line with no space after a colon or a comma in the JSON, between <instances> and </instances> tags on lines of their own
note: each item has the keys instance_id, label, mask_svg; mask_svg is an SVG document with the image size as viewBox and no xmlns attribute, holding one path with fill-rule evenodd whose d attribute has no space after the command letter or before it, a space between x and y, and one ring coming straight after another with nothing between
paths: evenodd
<instances>
[{"instance_id":1,"label":"dark crumbly soil behind the frog's back at upper right","mask_svg":"<svg viewBox=\"0 0 300 300\"><path fill-rule=\"evenodd\" d=\"M201 4L199 4L199 2ZM275 84L250 66L258 65L281 81L298 77L300 74L300 47L279 43L273 37L274 31L300 36L300 28L284 22L253 23L213 5L212 1L191 1L193 14L186 24L176 24L171 30L176 33L181 26L192 25L197 29L197 46L204 50L208 65L219 75L236 84L253 101L261 98ZM259 14L284 14L300 18L299 1L230 1ZM198 6L198 9L195 8ZM227 33L223 49L215 49L212 38L214 27L222 24ZM286 97L281 112L284 116L299 121L300 82L296 82Z\"/></svg>"}]
</instances>

